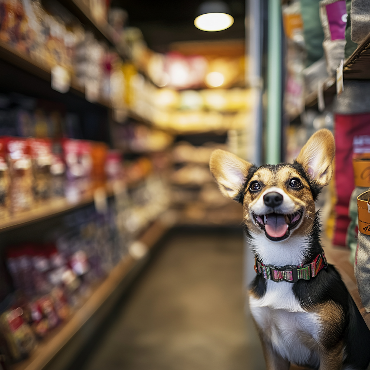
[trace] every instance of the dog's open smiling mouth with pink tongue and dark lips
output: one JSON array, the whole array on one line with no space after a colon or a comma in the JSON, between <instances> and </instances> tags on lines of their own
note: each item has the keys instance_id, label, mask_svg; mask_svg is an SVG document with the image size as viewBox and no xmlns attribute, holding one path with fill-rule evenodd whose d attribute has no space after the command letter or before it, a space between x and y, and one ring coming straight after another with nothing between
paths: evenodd
<instances>
[{"instance_id":1,"label":"dog's open smiling mouth with pink tongue and dark lips","mask_svg":"<svg viewBox=\"0 0 370 370\"><path fill-rule=\"evenodd\" d=\"M267 215L253 214L254 221L266 234L267 238L278 242L289 236L290 230L294 229L300 219L302 212L298 211L291 215L280 213L268 213Z\"/></svg>"}]
</instances>

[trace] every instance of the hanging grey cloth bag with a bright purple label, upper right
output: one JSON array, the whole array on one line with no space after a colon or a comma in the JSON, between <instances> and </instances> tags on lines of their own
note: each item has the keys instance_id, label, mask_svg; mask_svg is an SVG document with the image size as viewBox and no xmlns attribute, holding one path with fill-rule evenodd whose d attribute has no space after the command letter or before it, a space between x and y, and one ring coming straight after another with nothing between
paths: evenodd
<instances>
[{"instance_id":1,"label":"hanging grey cloth bag with a bright purple label, upper right","mask_svg":"<svg viewBox=\"0 0 370 370\"><path fill-rule=\"evenodd\" d=\"M346 1L320 1L320 20L324 30L323 49L327 73L329 76L335 76L340 61L344 59L347 23Z\"/></svg>"}]
</instances>

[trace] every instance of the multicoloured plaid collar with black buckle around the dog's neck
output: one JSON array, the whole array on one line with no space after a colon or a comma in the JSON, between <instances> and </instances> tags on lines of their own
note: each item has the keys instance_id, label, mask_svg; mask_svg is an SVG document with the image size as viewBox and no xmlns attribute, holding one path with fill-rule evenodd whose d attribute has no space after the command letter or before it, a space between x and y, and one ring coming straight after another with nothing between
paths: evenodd
<instances>
[{"instance_id":1,"label":"multicoloured plaid collar with black buckle around the dog's neck","mask_svg":"<svg viewBox=\"0 0 370 370\"><path fill-rule=\"evenodd\" d=\"M296 283L298 280L310 280L315 277L319 271L326 269L327 262L325 253L322 251L311 263L306 263L300 266L283 266L276 267L272 265L263 265L257 258L255 258L254 269L258 275L263 274L265 279L270 279L275 282L287 281L289 283Z\"/></svg>"}]
</instances>

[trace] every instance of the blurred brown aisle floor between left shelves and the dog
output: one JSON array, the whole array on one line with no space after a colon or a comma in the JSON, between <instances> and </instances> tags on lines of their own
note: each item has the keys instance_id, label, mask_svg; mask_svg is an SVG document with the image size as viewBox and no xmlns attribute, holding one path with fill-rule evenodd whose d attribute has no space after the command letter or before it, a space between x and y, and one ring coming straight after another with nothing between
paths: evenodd
<instances>
[{"instance_id":1,"label":"blurred brown aisle floor between left shelves and the dog","mask_svg":"<svg viewBox=\"0 0 370 370\"><path fill-rule=\"evenodd\" d=\"M177 232L81 370L262 370L245 315L242 232Z\"/></svg>"}]
</instances>

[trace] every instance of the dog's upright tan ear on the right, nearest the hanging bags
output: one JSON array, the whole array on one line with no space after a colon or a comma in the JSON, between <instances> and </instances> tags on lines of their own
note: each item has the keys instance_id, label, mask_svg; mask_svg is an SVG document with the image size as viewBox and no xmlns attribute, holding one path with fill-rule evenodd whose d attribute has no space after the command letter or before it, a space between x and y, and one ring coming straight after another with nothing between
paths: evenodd
<instances>
[{"instance_id":1,"label":"dog's upright tan ear on the right, nearest the hanging bags","mask_svg":"<svg viewBox=\"0 0 370 370\"><path fill-rule=\"evenodd\" d=\"M326 128L315 132L296 159L319 186L329 184L333 175L335 144L333 134Z\"/></svg>"}]
</instances>

